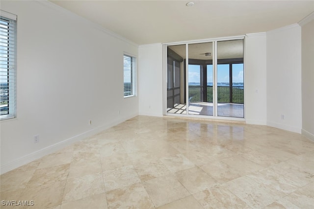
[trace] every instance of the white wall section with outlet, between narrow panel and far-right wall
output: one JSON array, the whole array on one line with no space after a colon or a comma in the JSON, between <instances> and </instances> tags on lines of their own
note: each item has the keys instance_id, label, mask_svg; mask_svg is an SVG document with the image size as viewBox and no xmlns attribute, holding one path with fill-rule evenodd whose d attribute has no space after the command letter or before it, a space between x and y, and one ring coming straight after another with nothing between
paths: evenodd
<instances>
[{"instance_id":1,"label":"white wall section with outlet, between narrow panel and far-right wall","mask_svg":"<svg viewBox=\"0 0 314 209\"><path fill-rule=\"evenodd\" d=\"M266 35L267 125L301 133L301 27L288 25Z\"/></svg>"}]
</instances>

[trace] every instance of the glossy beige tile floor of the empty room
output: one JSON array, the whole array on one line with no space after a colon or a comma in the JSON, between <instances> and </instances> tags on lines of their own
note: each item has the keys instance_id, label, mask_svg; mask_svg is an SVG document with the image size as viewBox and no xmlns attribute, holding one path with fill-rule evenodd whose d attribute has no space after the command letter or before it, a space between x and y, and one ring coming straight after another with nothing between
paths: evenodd
<instances>
[{"instance_id":1,"label":"glossy beige tile floor of the empty room","mask_svg":"<svg viewBox=\"0 0 314 209\"><path fill-rule=\"evenodd\" d=\"M267 126L136 116L0 178L1 200L31 209L313 209L314 142Z\"/></svg>"}]
</instances>

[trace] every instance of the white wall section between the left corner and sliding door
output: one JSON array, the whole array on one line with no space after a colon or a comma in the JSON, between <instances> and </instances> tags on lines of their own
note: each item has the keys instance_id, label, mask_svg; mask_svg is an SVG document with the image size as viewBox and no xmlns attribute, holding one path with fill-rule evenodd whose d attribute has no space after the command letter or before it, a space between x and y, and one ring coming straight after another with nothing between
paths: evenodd
<instances>
[{"instance_id":1,"label":"white wall section between the left corner and sliding door","mask_svg":"<svg viewBox=\"0 0 314 209\"><path fill-rule=\"evenodd\" d=\"M139 115L162 116L162 45L138 49Z\"/></svg>"}]
</instances>

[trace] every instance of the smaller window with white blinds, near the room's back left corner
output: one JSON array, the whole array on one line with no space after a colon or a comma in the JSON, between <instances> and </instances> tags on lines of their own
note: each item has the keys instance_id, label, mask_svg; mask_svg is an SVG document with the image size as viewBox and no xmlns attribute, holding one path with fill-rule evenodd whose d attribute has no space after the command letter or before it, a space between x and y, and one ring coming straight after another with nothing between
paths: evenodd
<instances>
[{"instance_id":1,"label":"smaller window with white blinds, near the room's back left corner","mask_svg":"<svg viewBox=\"0 0 314 209\"><path fill-rule=\"evenodd\" d=\"M124 97L136 96L136 57L123 55Z\"/></svg>"}]
</instances>

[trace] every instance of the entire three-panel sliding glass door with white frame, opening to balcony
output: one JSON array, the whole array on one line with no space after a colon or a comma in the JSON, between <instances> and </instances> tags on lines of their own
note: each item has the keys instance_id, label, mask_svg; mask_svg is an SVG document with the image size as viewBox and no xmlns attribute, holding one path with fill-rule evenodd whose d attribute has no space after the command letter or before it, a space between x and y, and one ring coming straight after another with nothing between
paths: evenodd
<instances>
[{"instance_id":1,"label":"entire three-panel sliding glass door with white frame, opening to balcony","mask_svg":"<svg viewBox=\"0 0 314 209\"><path fill-rule=\"evenodd\" d=\"M243 39L167 46L167 113L244 117Z\"/></svg>"}]
</instances>

